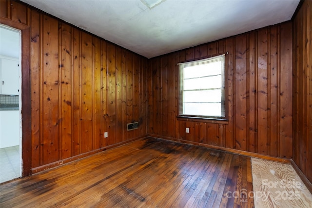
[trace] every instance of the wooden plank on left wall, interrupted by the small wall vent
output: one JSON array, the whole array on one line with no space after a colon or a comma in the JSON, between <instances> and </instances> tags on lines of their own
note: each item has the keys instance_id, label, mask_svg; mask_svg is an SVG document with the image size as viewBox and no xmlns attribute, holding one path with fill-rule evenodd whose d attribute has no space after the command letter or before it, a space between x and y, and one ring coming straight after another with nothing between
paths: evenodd
<instances>
[{"instance_id":1,"label":"wooden plank on left wall, interrupted by the small wall vent","mask_svg":"<svg viewBox=\"0 0 312 208\"><path fill-rule=\"evenodd\" d=\"M127 54L127 123L132 123L133 120L133 70L134 70L133 55ZM133 131L127 132L127 139L133 138Z\"/></svg>"}]
</instances>

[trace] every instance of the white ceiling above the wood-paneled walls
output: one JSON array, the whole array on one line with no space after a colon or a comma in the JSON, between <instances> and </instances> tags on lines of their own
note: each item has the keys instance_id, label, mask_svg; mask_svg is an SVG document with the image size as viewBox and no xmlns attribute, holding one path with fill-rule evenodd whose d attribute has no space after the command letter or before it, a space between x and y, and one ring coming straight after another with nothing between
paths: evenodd
<instances>
[{"instance_id":1,"label":"white ceiling above the wood-paneled walls","mask_svg":"<svg viewBox=\"0 0 312 208\"><path fill-rule=\"evenodd\" d=\"M290 20L299 0L22 0L151 58ZM145 0L155 1L155 0Z\"/></svg>"}]
</instances>

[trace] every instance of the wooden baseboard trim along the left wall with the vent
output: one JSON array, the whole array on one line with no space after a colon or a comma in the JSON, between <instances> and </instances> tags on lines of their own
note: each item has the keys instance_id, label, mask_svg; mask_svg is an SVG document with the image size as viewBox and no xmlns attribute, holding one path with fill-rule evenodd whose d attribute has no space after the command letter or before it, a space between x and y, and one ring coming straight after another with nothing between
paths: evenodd
<instances>
[{"instance_id":1,"label":"wooden baseboard trim along the left wall with the vent","mask_svg":"<svg viewBox=\"0 0 312 208\"><path fill-rule=\"evenodd\" d=\"M54 163L49 163L49 164L46 164L46 165L43 165L43 166L39 166L39 167L33 168L31 170L31 172L32 172L32 174L36 174L36 173L39 173L39 172L44 171L44 170L50 170L52 168L59 167L61 165L64 165L64 164L76 161L78 159L81 159L81 158L84 158L84 157L87 157L87 156L90 156L90 155L93 155L93 154L96 154L98 152L105 151L105 150L112 149L112 148L116 148L116 147L119 147L121 145L125 145L125 144L128 144L128 143L134 142L134 141L136 141L138 139L143 139L143 138L146 138L146 137L147 137L147 135L139 136L139 137L136 137L136 138L133 138L133 139L129 139L127 141L118 142L116 144L112 144L112 145L109 145L109 146L106 146L106 147L102 147L102 148L99 148L97 150L88 151L88 152L85 152L85 153L82 153L82 154L78 154L78 155L75 155L73 157L69 157L69 158L66 158L66 159L63 159L63 160L59 160L59 161L54 162Z\"/></svg>"}]
</instances>

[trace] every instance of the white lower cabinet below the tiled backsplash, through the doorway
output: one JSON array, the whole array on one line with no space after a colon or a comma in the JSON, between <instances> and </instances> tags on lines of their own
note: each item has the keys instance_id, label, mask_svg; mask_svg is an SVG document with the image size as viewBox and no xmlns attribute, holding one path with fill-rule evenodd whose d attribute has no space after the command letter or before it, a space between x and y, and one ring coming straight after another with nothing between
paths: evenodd
<instances>
[{"instance_id":1,"label":"white lower cabinet below the tiled backsplash, through the doorway","mask_svg":"<svg viewBox=\"0 0 312 208\"><path fill-rule=\"evenodd\" d=\"M20 111L0 111L0 148L20 145Z\"/></svg>"}]
</instances>

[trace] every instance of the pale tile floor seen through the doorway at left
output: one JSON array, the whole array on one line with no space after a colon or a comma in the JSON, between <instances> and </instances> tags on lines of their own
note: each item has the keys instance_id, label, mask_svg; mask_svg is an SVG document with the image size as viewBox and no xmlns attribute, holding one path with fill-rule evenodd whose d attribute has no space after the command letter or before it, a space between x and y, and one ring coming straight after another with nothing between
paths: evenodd
<instances>
[{"instance_id":1,"label":"pale tile floor seen through the doorway at left","mask_svg":"<svg viewBox=\"0 0 312 208\"><path fill-rule=\"evenodd\" d=\"M0 183L20 177L20 146L0 149Z\"/></svg>"}]
</instances>

